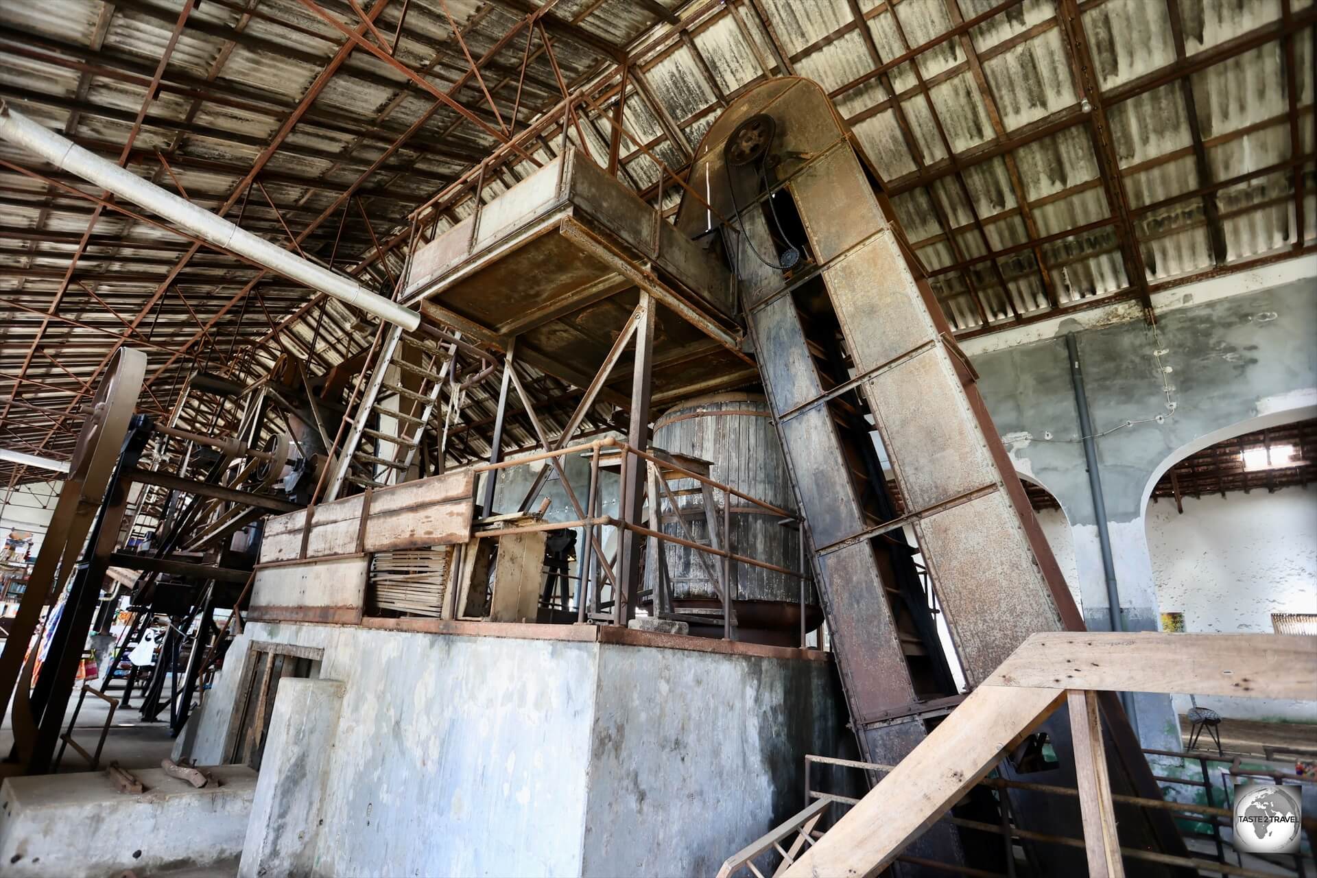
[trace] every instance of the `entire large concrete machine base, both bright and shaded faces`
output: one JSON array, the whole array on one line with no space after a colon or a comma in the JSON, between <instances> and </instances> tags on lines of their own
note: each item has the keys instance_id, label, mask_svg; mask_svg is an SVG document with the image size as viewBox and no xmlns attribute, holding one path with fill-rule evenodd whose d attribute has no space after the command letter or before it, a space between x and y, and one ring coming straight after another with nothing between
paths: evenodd
<instances>
[{"instance_id":1,"label":"entire large concrete machine base, both bright and shaded faces","mask_svg":"<svg viewBox=\"0 0 1317 878\"><path fill-rule=\"evenodd\" d=\"M200 711L203 761L253 638L319 646L345 684L316 875L709 871L847 736L827 662L253 623Z\"/></svg>"}]
</instances>

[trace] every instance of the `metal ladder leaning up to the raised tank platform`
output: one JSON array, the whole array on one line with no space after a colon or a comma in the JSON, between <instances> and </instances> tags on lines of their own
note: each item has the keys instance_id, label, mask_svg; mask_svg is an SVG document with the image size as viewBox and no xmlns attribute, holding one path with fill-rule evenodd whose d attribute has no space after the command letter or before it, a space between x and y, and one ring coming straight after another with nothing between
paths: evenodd
<instances>
[{"instance_id":1,"label":"metal ladder leaning up to the raised tank platform","mask_svg":"<svg viewBox=\"0 0 1317 878\"><path fill-rule=\"evenodd\" d=\"M396 484L416 459L425 426L448 383L457 345L439 345L415 334L407 334L404 340L403 336L402 326L391 326L385 337L323 503L337 499L344 484L360 488ZM423 351L420 366L402 355L404 342ZM392 366L398 367L399 375L416 375L420 388L403 387L400 378L396 384L389 383ZM396 433L381 430L382 419L394 419ZM386 445L394 449L389 450Z\"/></svg>"}]
</instances>

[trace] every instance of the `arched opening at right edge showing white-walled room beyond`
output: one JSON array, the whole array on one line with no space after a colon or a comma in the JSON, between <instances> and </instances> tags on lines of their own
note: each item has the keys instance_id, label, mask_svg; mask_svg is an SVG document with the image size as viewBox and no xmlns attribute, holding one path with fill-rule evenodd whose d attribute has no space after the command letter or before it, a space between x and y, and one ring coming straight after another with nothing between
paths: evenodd
<instances>
[{"instance_id":1,"label":"arched opening at right edge showing white-walled room beyond","mask_svg":"<svg viewBox=\"0 0 1317 878\"><path fill-rule=\"evenodd\" d=\"M1144 491L1144 528L1162 631L1274 633L1317 621L1317 411L1234 424L1171 457ZM1310 731L1317 704L1172 698L1185 733L1193 707L1234 736L1266 741ZM1200 744L1201 745L1201 744Z\"/></svg>"}]
</instances>

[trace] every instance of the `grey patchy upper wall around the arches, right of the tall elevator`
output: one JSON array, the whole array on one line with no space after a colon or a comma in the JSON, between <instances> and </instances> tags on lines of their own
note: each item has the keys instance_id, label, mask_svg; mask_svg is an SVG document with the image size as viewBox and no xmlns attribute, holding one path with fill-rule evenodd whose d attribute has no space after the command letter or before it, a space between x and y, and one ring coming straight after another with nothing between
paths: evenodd
<instances>
[{"instance_id":1,"label":"grey patchy upper wall around the arches, right of the tall elevator","mask_svg":"<svg viewBox=\"0 0 1317 878\"><path fill-rule=\"evenodd\" d=\"M1047 337L1029 328L967 344L1017 469L1056 496L1071 523L1090 628L1110 627L1109 602L1065 334L1077 336L1097 434L1123 625L1155 631L1158 586L1144 527L1152 484L1200 448L1310 416L1317 405L1317 259L1283 263L1268 276L1284 283L1226 278L1163 295L1155 328L1089 316L1052 321ZM1254 582L1259 594L1268 586ZM1139 703L1147 707L1139 712L1143 741L1176 744L1168 699Z\"/></svg>"}]
</instances>

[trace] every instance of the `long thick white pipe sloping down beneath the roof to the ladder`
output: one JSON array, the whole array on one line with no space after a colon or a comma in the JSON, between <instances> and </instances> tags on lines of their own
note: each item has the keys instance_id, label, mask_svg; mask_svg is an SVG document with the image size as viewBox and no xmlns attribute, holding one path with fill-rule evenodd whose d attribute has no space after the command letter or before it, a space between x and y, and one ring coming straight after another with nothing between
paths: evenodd
<instances>
[{"instance_id":1,"label":"long thick white pipe sloping down beneath the roof to the ladder","mask_svg":"<svg viewBox=\"0 0 1317 878\"><path fill-rule=\"evenodd\" d=\"M0 100L0 137L36 153L55 167L140 204L199 238L241 254L271 271L304 283L312 290L319 290L327 296L333 296L407 330L420 325L420 315L411 308L404 308L341 274L270 244L265 238L144 180L132 171L94 155L72 141L32 121L3 100Z\"/></svg>"}]
</instances>

